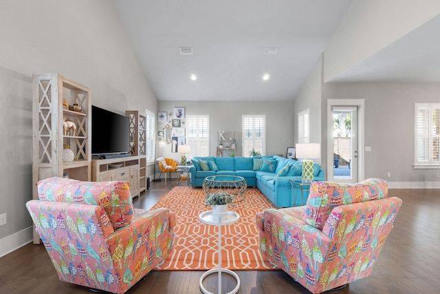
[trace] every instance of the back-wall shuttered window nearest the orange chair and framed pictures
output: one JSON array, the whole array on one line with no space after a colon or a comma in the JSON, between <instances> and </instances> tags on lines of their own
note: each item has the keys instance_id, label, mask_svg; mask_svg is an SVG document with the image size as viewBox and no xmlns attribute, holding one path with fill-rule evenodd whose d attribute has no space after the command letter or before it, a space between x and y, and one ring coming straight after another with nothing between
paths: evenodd
<instances>
[{"instance_id":1,"label":"back-wall shuttered window nearest the orange chair and framed pictures","mask_svg":"<svg viewBox=\"0 0 440 294\"><path fill-rule=\"evenodd\" d=\"M209 116L186 116L187 145L191 147L190 157L209 156Z\"/></svg>"}]
</instances>

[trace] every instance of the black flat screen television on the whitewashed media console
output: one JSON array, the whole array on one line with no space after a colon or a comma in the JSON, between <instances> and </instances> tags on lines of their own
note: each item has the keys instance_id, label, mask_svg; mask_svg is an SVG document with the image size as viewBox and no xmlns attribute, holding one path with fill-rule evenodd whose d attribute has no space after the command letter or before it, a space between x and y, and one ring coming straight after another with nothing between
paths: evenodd
<instances>
[{"instance_id":1,"label":"black flat screen television on the whitewashed media console","mask_svg":"<svg viewBox=\"0 0 440 294\"><path fill-rule=\"evenodd\" d=\"M129 118L91 105L91 154L105 156L129 152Z\"/></svg>"}]
</instances>

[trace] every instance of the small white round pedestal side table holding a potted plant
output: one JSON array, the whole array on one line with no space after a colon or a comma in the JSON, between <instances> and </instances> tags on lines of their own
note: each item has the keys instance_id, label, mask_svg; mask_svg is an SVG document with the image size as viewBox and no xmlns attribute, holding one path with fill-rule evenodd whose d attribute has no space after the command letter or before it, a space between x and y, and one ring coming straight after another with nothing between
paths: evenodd
<instances>
[{"instance_id":1,"label":"small white round pedestal side table holding a potted plant","mask_svg":"<svg viewBox=\"0 0 440 294\"><path fill-rule=\"evenodd\" d=\"M233 224L234 222L239 220L239 218L240 218L240 216L238 215L238 213L236 213L234 211L228 211L228 215L227 216L223 216L223 218L221 218L221 220L219 220L219 218L214 216L212 211L202 212L200 214L200 216L199 216L199 219L201 220L201 222L203 222L205 224L212 224L214 226L219 227L219 241L218 241L218 246L219 246L219 266L218 266L217 269L210 269L209 271L206 271L205 273L203 273L203 275L201 275L201 277L200 277L200 290L204 294L214 294L214 293L209 292L208 290L206 290L206 288L203 286L203 280L205 280L205 278L208 277L208 275L210 275L211 273L216 273L216 272L219 274L219 292L218 292L219 294L221 293L221 273L229 273L236 280L235 288L232 291L230 291L229 293L227 293L227 294L234 294L234 293L237 293L239 291L239 288L240 288L240 278L239 278L239 275L237 275L236 273L234 273L230 269L221 269L221 227L225 226L227 224Z\"/></svg>"}]
</instances>

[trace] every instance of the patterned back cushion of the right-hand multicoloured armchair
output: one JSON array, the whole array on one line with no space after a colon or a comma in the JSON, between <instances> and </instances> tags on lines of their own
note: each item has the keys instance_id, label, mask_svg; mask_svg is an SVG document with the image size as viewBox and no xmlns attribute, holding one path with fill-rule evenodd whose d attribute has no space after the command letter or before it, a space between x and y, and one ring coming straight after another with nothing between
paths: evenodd
<instances>
[{"instance_id":1,"label":"patterned back cushion of the right-hand multicoloured armchair","mask_svg":"<svg viewBox=\"0 0 440 294\"><path fill-rule=\"evenodd\" d=\"M311 182L303 219L307 224L322 229L333 207L382 199L386 196L388 196L388 184L377 178L356 184Z\"/></svg>"}]
</instances>

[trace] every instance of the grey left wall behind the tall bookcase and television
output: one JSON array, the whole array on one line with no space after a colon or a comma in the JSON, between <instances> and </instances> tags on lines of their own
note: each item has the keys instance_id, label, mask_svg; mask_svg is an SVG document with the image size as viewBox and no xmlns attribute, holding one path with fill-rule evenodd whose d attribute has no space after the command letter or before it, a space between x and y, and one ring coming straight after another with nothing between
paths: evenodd
<instances>
[{"instance_id":1,"label":"grey left wall behind the tall bookcase and television","mask_svg":"<svg viewBox=\"0 0 440 294\"><path fill-rule=\"evenodd\" d=\"M155 112L156 98L109 1L0 1L0 256L31 240L32 74L90 87L92 104Z\"/></svg>"}]
</instances>

